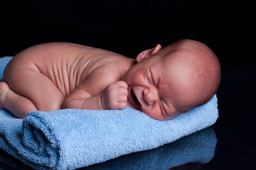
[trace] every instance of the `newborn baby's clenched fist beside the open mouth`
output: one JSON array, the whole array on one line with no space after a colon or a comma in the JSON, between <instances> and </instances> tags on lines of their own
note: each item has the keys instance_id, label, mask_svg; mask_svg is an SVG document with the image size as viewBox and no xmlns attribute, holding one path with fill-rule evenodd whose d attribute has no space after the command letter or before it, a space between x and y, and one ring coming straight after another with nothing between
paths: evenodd
<instances>
[{"instance_id":1,"label":"newborn baby's clenched fist beside the open mouth","mask_svg":"<svg viewBox=\"0 0 256 170\"><path fill-rule=\"evenodd\" d=\"M102 108L122 109L127 107L128 85L125 81L117 81L105 89L101 96Z\"/></svg>"}]
</instances>

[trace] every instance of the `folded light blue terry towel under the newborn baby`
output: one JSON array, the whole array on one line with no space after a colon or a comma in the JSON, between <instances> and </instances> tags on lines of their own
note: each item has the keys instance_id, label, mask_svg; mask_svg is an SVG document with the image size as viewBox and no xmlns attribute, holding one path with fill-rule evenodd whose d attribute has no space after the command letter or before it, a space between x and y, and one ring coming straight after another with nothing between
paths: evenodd
<instances>
[{"instance_id":1,"label":"folded light blue terry towel under the newborn baby","mask_svg":"<svg viewBox=\"0 0 256 170\"><path fill-rule=\"evenodd\" d=\"M4 68L2 63L9 59L0 59L0 67ZM1 109L0 147L34 169L77 169L174 142L213 125L217 118L216 96L166 121L154 120L130 107L33 111L23 119Z\"/></svg>"}]
</instances>

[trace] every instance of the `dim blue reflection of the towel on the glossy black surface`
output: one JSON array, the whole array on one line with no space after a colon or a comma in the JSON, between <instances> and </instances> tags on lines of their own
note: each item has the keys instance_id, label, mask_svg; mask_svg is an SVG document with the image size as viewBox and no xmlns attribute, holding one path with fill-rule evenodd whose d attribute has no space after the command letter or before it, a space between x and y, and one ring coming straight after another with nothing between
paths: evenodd
<instances>
[{"instance_id":1,"label":"dim blue reflection of the towel on the glossy black surface","mask_svg":"<svg viewBox=\"0 0 256 170\"><path fill-rule=\"evenodd\" d=\"M216 146L213 128L206 128L182 137L169 145L164 145L146 152L124 155L101 164L87 166L81 170L101 169L170 169L187 163L206 164L213 158ZM0 169L28 169L14 157L10 157L0 149Z\"/></svg>"}]
</instances>

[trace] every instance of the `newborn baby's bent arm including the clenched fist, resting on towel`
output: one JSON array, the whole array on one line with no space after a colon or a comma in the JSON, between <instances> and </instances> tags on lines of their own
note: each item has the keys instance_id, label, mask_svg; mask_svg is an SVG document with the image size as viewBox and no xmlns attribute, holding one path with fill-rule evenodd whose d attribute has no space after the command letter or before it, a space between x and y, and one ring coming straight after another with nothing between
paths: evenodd
<instances>
[{"instance_id":1,"label":"newborn baby's bent arm including the clenched fist, resting on towel","mask_svg":"<svg viewBox=\"0 0 256 170\"><path fill-rule=\"evenodd\" d=\"M63 103L63 108L90 110L122 109L127 107L128 86L124 81L117 81L96 96L90 95L81 87L75 89Z\"/></svg>"}]
</instances>

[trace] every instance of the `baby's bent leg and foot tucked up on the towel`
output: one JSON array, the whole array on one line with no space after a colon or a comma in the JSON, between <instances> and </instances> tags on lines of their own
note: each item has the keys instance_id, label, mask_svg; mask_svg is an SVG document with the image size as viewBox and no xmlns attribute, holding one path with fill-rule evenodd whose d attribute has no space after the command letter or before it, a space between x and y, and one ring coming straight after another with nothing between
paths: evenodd
<instances>
[{"instance_id":1,"label":"baby's bent leg and foot tucked up on the towel","mask_svg":"<svg viewBox=\"0 0 256 170\"><path fill-rule=\"evenodd\" d=\"M0 106L22 118L29 111L54 111L62 108L64 96L48 77L31 69L6 72L9 87L1 82ZM3 87L4 86L4 87Z\"/></svg>"}]
</instances>

